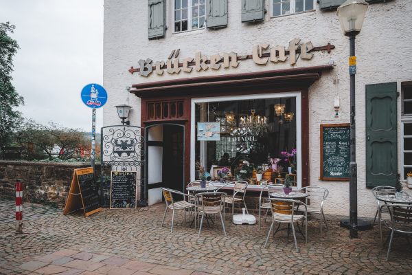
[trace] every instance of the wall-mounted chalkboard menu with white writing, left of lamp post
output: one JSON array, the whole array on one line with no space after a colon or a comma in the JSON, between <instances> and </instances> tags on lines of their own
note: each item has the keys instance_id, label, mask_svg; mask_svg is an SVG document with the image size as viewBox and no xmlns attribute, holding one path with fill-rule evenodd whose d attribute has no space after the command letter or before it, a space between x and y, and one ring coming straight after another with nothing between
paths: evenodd
<instances>
[{"instance_id":1,"label":"wall-mounted chalkboard menu with white writing, left of lamp post","mask_svg":"<svg viewBox=\"0 0 412 275\"><path fill-rule=\"evenodd\" d=\"M321 124L321 178L349 180L350 124Z\"/></svg>"}]
</instances>

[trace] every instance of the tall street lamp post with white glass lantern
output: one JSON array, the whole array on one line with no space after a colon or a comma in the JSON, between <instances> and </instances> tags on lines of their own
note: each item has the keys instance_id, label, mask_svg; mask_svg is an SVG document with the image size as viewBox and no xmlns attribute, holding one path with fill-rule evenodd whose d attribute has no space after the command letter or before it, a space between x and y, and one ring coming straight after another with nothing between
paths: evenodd
<instances>
[{"instance_id":1,"label":"tall street lamp post with white glass lantern","mask_svg":"<svg viewBox=\"0 0 412 275\"><path fill-rule=\"evenodd\" d=\"M350 184L349 184L349 225L350 237L358 237L358 174L356 164L356 130L355 130L355 37L361 32L363 19L368 4L363 0L347 0L338 8L338 17L345 36L350 41Z\"/></svg>"}]
</instances>

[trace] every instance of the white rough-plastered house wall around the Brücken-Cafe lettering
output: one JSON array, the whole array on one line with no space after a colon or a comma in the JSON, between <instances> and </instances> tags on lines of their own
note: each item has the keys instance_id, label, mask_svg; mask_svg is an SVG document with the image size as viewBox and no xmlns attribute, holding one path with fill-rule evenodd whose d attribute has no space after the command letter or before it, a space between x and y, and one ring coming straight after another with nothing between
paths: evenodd
<instances>
[{"instance_id":1,"label":"white rough-plastered house wall around the Br\u00fccken-Cafe lettering","mask_svg":"<svg viewBox=\"0 0 412 275\"><path fill-rule=\"evenodd\" d=\"M349 39L343 36L336 11L322 12L315 1L316 10L302 14L270 18L266 13L264 23L244 24L240 21L240 2L229 0L229 22L227 28L197 30L172 34L172 2L167 1L168 30L164 39L148 41L148 3L144 0L104 1L104 87L108 102L104 107L104 125L119 124L116 104L127 102L126 87L137 84L214 76L260 72L290 68L286 63L255 65L253 61L241 61L237 68L191 73L181 72L163 76L152 74L148 78L130 74L128 69L138 67L139 59L150 58L166 61L170 52L180 48L179 59L194 57L194 53L223 54L237 52L251 54L253 45L268 43L288 46L298 37L302 42L312 41L314 47L330 42L336 48L328 52L315 52L312 60L299 58L294 67L326 65L332 59L339 66L339 96L341 109L339 118L334 118L334 96L336 72L323 72L321 78L310 87L310 184L324 186L330 190L325 204L327 214L349 214L349 183L347 181L319 181L319 128L325 123L349 122L350 84L348 74ZM266 1L267 10L269 2ZM369 5L361 34L356 37L356 161L358 163L358 216L373 217L376 202L371 190L365 188L365 85L396 81L398 91L402 81L412 80L412 1L396 0ZM130 95L130 122L139 125L140 99ZM400 136L400 98L398 99L398 136ZM398 140L398 170L400 171L400 138Z\"/></svg>"}]
</instances>

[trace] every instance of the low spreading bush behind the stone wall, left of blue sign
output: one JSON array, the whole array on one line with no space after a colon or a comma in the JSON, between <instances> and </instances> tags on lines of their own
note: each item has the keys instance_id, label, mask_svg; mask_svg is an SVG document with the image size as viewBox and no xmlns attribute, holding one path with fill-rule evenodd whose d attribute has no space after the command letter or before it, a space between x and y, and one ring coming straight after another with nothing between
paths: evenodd
<instances>
[{"instance_id":1,"label":"low spreading bush behind the stone wall, left of blue sign","mask_svg":"<svg viewBox=\"0 0 412 275\"><path fill-rule=\"evenodd\" d=\"M47 155L49 159L71 159L76 157L76 151L87 148L89 142L80 129L62 127L50 122L42 125L34 120L26 120L20 129L16 131L16 142L25 146L29 159ZM60 152L54 153L54 148L60 148Z\"/></svg>"}]
</instances>

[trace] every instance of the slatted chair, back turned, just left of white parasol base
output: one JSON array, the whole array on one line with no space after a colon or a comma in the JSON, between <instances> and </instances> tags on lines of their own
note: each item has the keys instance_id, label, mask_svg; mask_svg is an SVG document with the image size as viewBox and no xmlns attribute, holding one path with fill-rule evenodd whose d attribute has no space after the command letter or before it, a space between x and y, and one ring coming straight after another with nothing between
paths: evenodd
<instances>
[{"instance_id":1,"label":"slatted chair, back turned, just left of white parasol base","mask_svg":"<svg viewBox=\"0 0 412 275\"><path fill-rule=\"evenodd\" d=\"M222 217L222 210L224 207L224 201L227 194L225 192L205 192L195 195L195 201L198 203L197 212L202 214L201 225L199 226L198 236L201 236L203 218L207 214L220 214L220 221L222 222L223 232L226 236L225 221Z\"/></svg>"}]
</instances>

